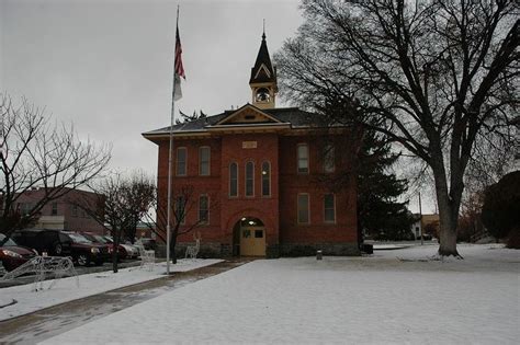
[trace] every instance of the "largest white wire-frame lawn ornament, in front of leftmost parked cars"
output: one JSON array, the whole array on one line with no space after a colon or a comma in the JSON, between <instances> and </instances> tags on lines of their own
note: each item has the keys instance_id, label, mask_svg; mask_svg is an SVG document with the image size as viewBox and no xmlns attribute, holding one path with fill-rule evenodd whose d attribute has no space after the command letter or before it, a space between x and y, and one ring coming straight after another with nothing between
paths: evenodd
<instances>
[{"instance_id":1,"label":"largest white wire-frame lawn ornament, in front of leftmost parked cars","mask_svg":"<svg viewBox=\"0 0 520 345\"><path fill-rule=\"evenodd\" d=\"M34 274L34 286L33 291L44 289L44 281L47 275L53 276L53 281L49 284L50 289L59 279L65 276L76 277L76 286L79 287L79 277L74 268L74 263L70 257L63 256L35 256L16 267L15 269L8 272L2 280L12 280L24 274Z\"/></svg>"}]
</instances>

